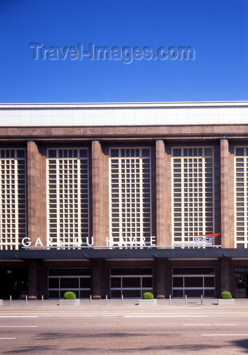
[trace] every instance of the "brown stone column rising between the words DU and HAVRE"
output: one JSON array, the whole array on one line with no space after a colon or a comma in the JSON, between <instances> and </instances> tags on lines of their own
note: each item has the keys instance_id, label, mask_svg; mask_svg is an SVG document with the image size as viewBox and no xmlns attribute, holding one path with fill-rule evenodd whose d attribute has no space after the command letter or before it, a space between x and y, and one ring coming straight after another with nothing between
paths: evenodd
<instances>
[{"instance_id":1,"label":"brown stone column rising between the words DU and HAVRE","mask_svg":"<svg viewBox=\"0 0 248 355\"><path fill-rule=\"evenodd\" d=\"M109 231L107 213L108 170L107 156L98 140L92 141L92 234L94 245L106 245Z\"/></svg>"}]
</instances>

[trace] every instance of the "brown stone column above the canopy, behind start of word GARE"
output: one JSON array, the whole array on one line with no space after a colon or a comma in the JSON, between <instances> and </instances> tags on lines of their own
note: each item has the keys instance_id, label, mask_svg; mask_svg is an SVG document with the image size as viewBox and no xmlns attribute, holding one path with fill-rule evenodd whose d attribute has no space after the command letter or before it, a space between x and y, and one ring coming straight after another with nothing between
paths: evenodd
<instances>
[{"instance_id":1,"label":"brown stone column above the canopy, behind start of word GARE","mask_svg":"<svg viewBox=\"0 0 248 355\"><path fill-rule=\"evenodd\" d=\"M46 155L34 141L27 142L27 237L47 245ZM37 244L40 245L40 244Z\"/></svg>"}]
</instances>

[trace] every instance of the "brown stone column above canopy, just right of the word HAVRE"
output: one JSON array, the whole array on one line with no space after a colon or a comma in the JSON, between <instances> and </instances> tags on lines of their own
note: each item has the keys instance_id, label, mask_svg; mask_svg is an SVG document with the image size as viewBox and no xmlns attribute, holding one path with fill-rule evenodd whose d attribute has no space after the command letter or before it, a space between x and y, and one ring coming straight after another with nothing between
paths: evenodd
<instances>
[{"instance_id":1,"label":"brown stone column above canopy, just right of the word HAVRE","mask_svg":"<svg viewBox=\"0 0 248 355\"><path fill-rule=\"evenodd\" d=\"M171 245L171 165L163 140L156 140L156 204L156 244Z\"/></svg>"}]
</instances>

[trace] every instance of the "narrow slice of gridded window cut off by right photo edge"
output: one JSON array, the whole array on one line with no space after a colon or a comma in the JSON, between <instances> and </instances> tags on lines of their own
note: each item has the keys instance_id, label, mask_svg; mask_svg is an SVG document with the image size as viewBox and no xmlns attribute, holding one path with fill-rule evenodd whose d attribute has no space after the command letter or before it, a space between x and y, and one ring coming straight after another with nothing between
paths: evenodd
<instances>
[{"instance_id":1,"label":"narrow slice of gridded window cut off by right photo edge","mask_svg":"<svg viewBox=\"0 0 248 355\"><path fill-rule=\"evenodd\" d=\"M235 148L235 247L248 246L248 148Z\"/></svg>"}]
</instances>

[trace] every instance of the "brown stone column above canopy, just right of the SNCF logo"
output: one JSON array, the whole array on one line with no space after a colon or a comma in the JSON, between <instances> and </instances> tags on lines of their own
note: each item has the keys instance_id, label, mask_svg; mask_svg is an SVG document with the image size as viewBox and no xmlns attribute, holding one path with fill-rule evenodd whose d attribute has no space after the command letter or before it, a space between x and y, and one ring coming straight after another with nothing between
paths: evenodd
<instances>
[{"instance_id":1,"label":"brown stone column above canopy, just right of the SNCF logo","mask_svg":"<svg viewBox=\"0 0 248 355\"><path fill-rule=\"evenodd\" d=\"M231 165L229 143L220 141L220 196L221 196L221 246L234 247L234 205L233 166Z\"/></svg>"}]
</instances>

